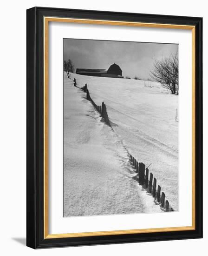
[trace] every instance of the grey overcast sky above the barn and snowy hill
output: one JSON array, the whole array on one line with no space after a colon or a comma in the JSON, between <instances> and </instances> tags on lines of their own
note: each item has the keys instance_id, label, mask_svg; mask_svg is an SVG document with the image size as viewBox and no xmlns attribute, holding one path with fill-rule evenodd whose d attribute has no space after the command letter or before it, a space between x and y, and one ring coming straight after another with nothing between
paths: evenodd
<instances>
[{"instance_id":1,"label":"grey overcast sky above the barn and snowy hill","mask_svg":"<svg viewBox=\"0 0 208 256\"><path fill-rule=\"evenodd\" d=\"M176 44L64 39L64 60L70 58L75 68L108 69L115 62L123 76L131 78L149 78L153 59L167 57L177 50Z\"/></svg>"}]
</instances>

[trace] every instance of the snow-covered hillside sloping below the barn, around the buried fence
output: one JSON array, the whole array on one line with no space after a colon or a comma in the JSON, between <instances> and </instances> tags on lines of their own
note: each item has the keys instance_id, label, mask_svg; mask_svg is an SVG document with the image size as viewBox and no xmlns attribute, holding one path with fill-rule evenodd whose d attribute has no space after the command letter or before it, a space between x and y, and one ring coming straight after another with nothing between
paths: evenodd
<instances>
[{"instance_id":1,"label":"snow-covered hillside sloping below the barn, around the buried fence","mask_svg":"<svg viewBox=\"0 0 208 256\"><path fill-rule=\"evenodd\" d=\"M97 105L104 101L114 131L64 74L65 216L160 211L134 180L126 149L138 162L151 163L150 172L177 210L178 96L150 81L71 78L79 87L87 83Z\"/></svg>"}]
</instances>

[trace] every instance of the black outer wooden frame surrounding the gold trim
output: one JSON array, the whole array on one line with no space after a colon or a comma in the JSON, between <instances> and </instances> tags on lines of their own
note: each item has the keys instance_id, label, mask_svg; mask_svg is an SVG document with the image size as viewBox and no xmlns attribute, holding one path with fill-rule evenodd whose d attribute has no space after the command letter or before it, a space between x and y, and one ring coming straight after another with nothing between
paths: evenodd
<instances>
[{"instance_id":1,"label":"black outer wooden frame surrounding the gold trim","mask_svg":"<svg viewBox=\"0 0 208 256\"><path fill-rule=\"evenodd\" d=\"M195 230L44 239L44 16L195 26ZM27 239L34 249L202 238L202 18L33 7L27 10Z\"/></svg>"}]
</instances>

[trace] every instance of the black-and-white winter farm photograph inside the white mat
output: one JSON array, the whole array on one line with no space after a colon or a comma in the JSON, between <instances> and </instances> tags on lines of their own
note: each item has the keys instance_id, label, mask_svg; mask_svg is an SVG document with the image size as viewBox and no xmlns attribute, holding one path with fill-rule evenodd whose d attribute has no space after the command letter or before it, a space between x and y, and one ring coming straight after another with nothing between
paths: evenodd
<instances>
[{"instance_id":1,"label":"black-and-white winter farm photograph inside the white mat","mask_svg":"<svg viewBox=\"0 0 208 256\"><path fill-rule=\"evenodd\" d=\"M178 44L63 46L64 217L178 211Z\"/></svg>"}]
</instances>

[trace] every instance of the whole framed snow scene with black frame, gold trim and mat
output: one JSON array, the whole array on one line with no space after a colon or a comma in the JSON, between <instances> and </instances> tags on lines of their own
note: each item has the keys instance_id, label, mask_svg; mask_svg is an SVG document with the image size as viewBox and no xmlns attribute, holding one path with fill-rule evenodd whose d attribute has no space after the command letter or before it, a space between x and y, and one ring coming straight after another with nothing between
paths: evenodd
<instances>
[{"instance_id":1,"label":"whole framed snow scene with black frame, gold trim and mat","mask_svg":"<svg viewBox=\"0 0 208 256\"><path fill-rule=\"evenodd\" d=\"M202 18L27 10L27 246L202 237Z\"/></svg>"}]
</instances>

